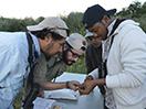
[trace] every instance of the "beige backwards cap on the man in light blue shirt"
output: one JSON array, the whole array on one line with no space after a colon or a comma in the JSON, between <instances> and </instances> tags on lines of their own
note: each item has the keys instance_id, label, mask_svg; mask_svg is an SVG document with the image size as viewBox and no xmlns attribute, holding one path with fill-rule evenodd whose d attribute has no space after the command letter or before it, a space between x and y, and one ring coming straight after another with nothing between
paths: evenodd
<instances>
[{"instance_id":1,"label":"beige backwards cap on the man in light blue shirt","mask_svg":"<svg viewBox=\"0 0 146 109\"><path fill-rule=\"evenodd\" d=\"M48 30L50 30L52 32L55 32L55 33L60 34L63 37L67 36L66 31L69 30L69 28L65 24L65 22L61 18L58 18L58 17L45 18L39 24L29 25L29 26L27 26L27 29L29 31L41 31L43 29L48 29Z\"/></svg>"}]
</instances>

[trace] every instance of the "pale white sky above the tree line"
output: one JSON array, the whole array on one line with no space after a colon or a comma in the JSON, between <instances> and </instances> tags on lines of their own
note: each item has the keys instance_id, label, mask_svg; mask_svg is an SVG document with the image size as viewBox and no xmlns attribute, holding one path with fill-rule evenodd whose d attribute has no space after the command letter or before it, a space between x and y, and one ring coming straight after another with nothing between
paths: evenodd
<instances>
[{"instance_id":1,"label":"pale white sky above the tree line","mask_svg":"<svg viewBox=\"0 0 146 109\"><path fill-rule=\"evenodd\" d=\"M101 4L106 10L116 8L121 11L134 1L146 0L0 0L0 17L33 18L60 17L71 12L84 12L87 7Z\"/></svg>"}]
</instances>

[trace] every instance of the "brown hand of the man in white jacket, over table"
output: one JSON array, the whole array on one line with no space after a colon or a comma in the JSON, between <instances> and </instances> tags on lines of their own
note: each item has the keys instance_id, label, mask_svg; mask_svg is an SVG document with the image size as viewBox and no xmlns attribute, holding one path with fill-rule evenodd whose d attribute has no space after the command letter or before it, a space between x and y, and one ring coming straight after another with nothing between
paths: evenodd
<instances>
[{"instance_id":1,"label":"brown hand of the man in white jacket, over table","mask_svg":"<svg viewBox=\"0 0 146 109\"><path fill-rule=\"evenodd\" d=\"M94 80L86 79L80 87L80 95L88 95L96 86Z\"/></svg>"}]
</instances>

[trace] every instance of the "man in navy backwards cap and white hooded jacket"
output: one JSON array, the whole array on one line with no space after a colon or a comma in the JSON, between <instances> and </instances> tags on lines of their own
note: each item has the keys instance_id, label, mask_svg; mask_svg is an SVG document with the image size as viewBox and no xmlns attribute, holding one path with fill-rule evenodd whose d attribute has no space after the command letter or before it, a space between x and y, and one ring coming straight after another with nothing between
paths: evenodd
<instances>
[{"instance_id":1,"label":"man in navy backwards cap and white hooded jacket","mask_svg":"<svg viewBox=\"0 0 146 109\"><path fill-rule=\"evenodd\" d=\"M92 72L80 91L90 94L100 86L104 89L106 109L145 109L146 34L133 20L112 19L115 12L100 4L84 12L85 28L103 41L103 63L102 70Z\"/></svg>"}]
</instances>

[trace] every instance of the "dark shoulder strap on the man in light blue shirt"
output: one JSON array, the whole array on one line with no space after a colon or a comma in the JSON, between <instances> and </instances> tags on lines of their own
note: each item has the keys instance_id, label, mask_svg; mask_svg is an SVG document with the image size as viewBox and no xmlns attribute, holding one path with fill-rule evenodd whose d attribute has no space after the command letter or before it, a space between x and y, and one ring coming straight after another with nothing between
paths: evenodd
<instances>
[{"instance_id":1,"label":"dark shoulder strap on the man in light blue shirt","mask_svg":"<svg viewBox=\"0 0 146 109\"><path fill-rule=\"evenodd\" d=\"M30 90L29 90L29 94L24 94L25 97L22 100L22 103L23 103L22 107L23 109L31 109L33 107L32 101L34 100L32 96L35 95L33 91L33 89L35 90L35 84L33 84L34 44L33 44L33 40L30 33L25 32L25 35L27 35L28 48L29 48L28 62L30 65L30 73L25 81L24 88L28 88L27 86L30 85L29 86Z\"/></svg>"}]
</instances>

